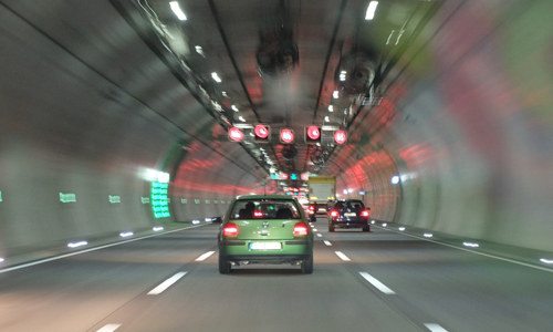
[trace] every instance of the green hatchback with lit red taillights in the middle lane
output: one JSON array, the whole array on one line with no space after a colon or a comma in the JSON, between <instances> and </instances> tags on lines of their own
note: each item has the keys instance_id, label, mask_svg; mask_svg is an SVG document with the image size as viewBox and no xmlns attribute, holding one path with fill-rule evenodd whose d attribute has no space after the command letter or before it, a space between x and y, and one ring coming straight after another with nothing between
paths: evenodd
<instances>
[{"instance_id":1,"label":"green hatchback with lit red taillights in the middle lane","mask_svg":"<svg viewBox=\"0 0 553 332\"><path fill-rule=\"evenodd\" d=\"M225 215L219 272L249 263L290 263L313 273L313 231L298 199L285 195L236 198Z\"/></svg>"}]
</instances>

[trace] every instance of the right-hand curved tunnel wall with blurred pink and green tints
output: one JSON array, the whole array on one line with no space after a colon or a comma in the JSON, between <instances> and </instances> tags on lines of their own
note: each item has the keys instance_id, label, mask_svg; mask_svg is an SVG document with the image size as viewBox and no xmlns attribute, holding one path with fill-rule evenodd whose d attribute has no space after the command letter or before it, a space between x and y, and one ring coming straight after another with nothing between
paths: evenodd
<instances>
[{"instance_id":1,"label":"right-hand curved tunnel wall with blurred pink and green tints","mask_svg":"<svg viewBox=\"0 0 553 332\"><path fill-rule=\"evenodd\" d=\"M397 221L552 251L553 7L503 4L446 2L432 29L445 24L404 59L409 93L386 141L403 179Z\"/></svg>"}]
</instances>

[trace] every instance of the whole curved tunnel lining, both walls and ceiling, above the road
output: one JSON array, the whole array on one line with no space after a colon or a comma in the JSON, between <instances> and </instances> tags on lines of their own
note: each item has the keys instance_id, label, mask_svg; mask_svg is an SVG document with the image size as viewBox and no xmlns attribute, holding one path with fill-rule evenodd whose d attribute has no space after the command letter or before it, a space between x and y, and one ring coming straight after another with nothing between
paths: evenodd
<instances>
[{"instance_id":1,"label":"whole curved tunnel lining, both walls and ceiling, above the road","mask_svg":"<svg viewBox=\"0 0 553 332\"><path fill-rule=\"evenodd\" d=\"M188 227L215 246L236 197L302 175L335 176L336 199L363 200L385 234L551 277L553 2L382 0L374 19L366 0L173 2L0 1L0 278Z\"/></svg>"}]
</instances>

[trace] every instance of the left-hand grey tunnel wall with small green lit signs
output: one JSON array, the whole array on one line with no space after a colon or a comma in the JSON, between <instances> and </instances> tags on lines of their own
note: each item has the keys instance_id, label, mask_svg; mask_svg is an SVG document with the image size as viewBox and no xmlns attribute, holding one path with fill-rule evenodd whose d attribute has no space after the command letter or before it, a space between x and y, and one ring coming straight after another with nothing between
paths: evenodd
<instances>
[{"instance_id":1,"label":"left-hand grey tunnel wall with small green lit signs","mask_svg":"<svg viewBox=\"0 0 553 332\"><path fill-rule=\"evenodd\" d=\"M201 199L194 209L173 199L171 218L154 218L148 174L173 173L175 146L219 125L108 3L56 4L102 10L103 20L71 30L72 15L55 8L0 11L0 257L221 216L220 200L234 193L207 194L207 181L185 195ZM216 156L208 148L195 158ZM212 180L237 185L230 175Z\"/></svg>"}]
</instances>

